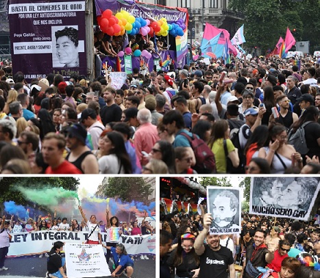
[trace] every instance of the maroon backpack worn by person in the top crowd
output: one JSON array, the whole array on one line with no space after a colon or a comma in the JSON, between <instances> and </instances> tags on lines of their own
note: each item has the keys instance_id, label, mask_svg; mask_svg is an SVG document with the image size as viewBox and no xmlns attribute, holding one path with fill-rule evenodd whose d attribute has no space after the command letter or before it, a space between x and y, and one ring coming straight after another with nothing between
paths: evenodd
<instances>
[{"instance_id":1,"label":"maroon backpack worn by person in the top crowd","mask_svg":"<svg viewBox=\"0 0 320 278\"><path fill-rule=\"evenodd\" d=\"M198 174L214 174L216 172L216 161L214 160L214 154L210 150L206 142L194 134L192 137L182 132L181 135L188 139L193 152L195 153L196 164L193 167Z\"/></svg>"}]
</instances>

